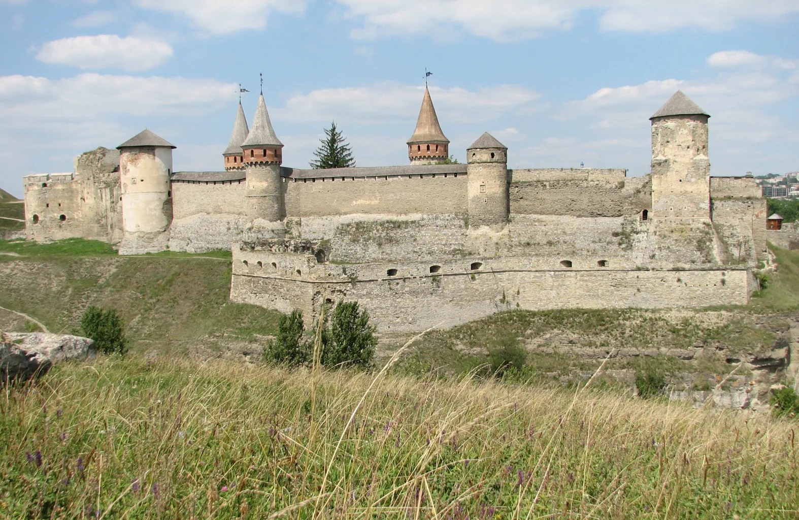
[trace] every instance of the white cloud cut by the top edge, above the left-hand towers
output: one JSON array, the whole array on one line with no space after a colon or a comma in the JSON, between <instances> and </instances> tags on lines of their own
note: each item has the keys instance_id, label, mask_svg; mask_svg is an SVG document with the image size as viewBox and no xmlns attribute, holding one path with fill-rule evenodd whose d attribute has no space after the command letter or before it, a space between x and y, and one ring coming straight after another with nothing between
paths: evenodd
<instances>
[{"instance_id":1,"label":"white cloud cut by the top edge, above the left-hand towers","mask_svg":"<svg viewBox=\"0 0 799 520\"><path fill-rule=\"evenodd\" d=\"M308 0L133 0L143 9L179 14L212 33L262 29L272 10L301 14Z\"/></svg>"}]
</instances>

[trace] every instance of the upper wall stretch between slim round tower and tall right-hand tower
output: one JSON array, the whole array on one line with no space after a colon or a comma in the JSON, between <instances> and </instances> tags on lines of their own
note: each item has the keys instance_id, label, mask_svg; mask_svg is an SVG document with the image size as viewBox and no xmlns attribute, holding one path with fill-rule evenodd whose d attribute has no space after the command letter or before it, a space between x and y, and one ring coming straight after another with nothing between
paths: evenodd
<instances>
[{"instance_id":1,"label":"upper wall stretch between slim round tower and tall right-hand tower","mask_svg":"<svg viewBox=\"0 0 799 520\"><path fill-rule=\"evenodd\" d=\"M625 216L652 207L650 177L578 170L514 170L511 214Z\"/></svg>"}]
</instances>

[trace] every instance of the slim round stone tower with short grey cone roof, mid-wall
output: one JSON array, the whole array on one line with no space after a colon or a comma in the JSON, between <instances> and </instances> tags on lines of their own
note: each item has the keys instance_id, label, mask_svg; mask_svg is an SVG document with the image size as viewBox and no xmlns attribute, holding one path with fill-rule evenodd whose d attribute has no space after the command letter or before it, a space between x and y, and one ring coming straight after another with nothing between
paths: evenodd
<instances>
[{"instance_id":1,"label":"slim round stone tower with short grey cone roof, mid-wall","mask_svg":"<svg viewBox=\"0 0 799 520\"><path fill-rule=\"evenodd\" d=\"M489 226L499 231L507 225L507 147L483 133L466 150L469 228Z\"/></svg>"}]
</instances>

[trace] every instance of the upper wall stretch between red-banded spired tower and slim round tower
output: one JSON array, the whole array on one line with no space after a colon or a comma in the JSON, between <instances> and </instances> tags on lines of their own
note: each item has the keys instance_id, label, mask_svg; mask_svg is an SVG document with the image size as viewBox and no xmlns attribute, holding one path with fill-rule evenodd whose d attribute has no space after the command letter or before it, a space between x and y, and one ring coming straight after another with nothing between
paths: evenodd
<instances>
[{"instance_id":1,"label":"upper wall stretch between red-banded spired tower and slim round tower","mask_svg":"<svg viewBox=\"0 0 799 520\"><path fill-rule=\"evenodd\" d=\"M466 183L463 173L345 177L344 181L284 177L286 216L465 214Z\"/></svg>"}]
</instances>

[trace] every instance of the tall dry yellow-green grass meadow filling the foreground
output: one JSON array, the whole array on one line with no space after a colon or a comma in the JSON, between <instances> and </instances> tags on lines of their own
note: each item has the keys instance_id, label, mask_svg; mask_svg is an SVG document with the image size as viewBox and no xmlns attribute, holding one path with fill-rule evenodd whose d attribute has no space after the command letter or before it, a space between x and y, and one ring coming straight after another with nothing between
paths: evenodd
<instances>
[{"instance_id":1,"label":"tall dry yellow-green grass meadow filling the foreground","mask_svg":"<svg viewBox=\"0 0 799 520\"><path fill-rule=\"evenodd\" d=\"M0 407L6 518L799 514L796 423L590 387L133 357Z\"/></svg>"}]
</instances>

